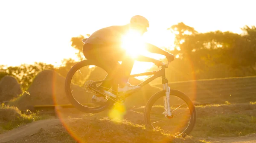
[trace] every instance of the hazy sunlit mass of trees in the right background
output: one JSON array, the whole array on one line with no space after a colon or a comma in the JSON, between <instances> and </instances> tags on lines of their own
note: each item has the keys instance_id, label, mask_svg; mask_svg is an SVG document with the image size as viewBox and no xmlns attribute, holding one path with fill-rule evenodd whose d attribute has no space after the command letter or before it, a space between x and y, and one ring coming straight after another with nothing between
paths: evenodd
<instances>
[{"instance_id":1,"label":"hazy sunlit mass of trees in the right background","mask_svg":"<svg viewBox=\"0 0 256 143\"><path fill-rule=\"evenodd\" d=\"M170 81L256 75L255 26L242 28L244 35L230 31L198 33L182 22L169 30L176 35L175 52L181 55L166 70Z\"/></svg>"}]
</instances>

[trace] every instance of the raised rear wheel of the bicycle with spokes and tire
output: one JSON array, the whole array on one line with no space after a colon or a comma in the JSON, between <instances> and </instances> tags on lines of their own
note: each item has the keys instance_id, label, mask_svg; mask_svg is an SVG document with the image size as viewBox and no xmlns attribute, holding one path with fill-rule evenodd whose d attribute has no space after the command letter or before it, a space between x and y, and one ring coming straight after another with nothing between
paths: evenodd
<instances>
[{"instance_id":1,"label":"raised rear wheel of the bicycle with spokes and tire","mask_svg":"<svg viewBox=\"0 0 256 143\"><path fill-rule=\"evenodd\" d=\"M114 101L106 98L104 104L93 104L92 96L95 94L88 90L88 84L100 81L110 73L111 69L93 60L84 60L75 64L67 74L65 92L68 100L74 107L86 113L98 113L112 106ZM113 85L113 91L117 85Z\"/></svg>"}]
</instances>

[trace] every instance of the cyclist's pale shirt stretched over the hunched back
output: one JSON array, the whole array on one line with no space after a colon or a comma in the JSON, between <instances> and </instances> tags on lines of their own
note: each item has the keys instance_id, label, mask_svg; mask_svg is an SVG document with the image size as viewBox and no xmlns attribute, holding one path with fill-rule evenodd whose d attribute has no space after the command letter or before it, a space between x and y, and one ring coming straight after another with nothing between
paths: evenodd
<instances>
[{"instance_id":1,"label":"cyclist's pale shirt stretched over the hunched back","mask_svg":"<svg viewBox=\"0 0 256 143\"><path fill-rule=\"evenodd\" d=\"M110 26L99 29L91 34L84 44L118 44L122 40L122 36L129 31L129 25Z\"/></svg>"}]
</instances>

